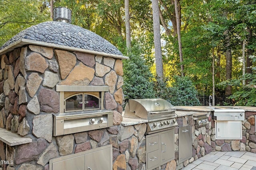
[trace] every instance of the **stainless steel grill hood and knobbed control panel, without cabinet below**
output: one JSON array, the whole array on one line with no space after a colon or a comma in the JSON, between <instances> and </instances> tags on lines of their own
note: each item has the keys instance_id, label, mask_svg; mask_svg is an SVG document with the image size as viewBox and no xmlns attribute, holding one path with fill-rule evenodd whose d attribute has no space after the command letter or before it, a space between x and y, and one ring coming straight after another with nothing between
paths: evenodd
<instances>
[{"instance_id":1,"label":"stainless steel grill hood and knobbed control panel, without cabinet below","mask_svg":"<svg viewBox=\"0 0 256 170\"><path fill-rule=\"evenodd\" d=\"M178 125L174 106L163 99L129 100L124 109L124 116L148 119L147 134Z\"/></svg>"}]
</instances>

